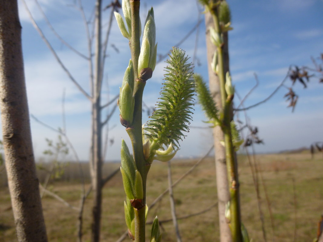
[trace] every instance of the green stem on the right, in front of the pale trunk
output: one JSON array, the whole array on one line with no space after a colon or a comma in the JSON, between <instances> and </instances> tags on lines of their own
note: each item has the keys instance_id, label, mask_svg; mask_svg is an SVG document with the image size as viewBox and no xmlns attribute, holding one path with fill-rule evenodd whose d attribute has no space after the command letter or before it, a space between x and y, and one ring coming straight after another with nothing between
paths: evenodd
<instances>
[{"instance_id":1,"label":"green stem on the right, in front of the pale trunk","mask_svg":"<svg viewBox=\"0 0 323 242\"><path fill-rule=\"evenodd\" d=\"M218 12L216 8L210 10L213 21L214 29L216 32L221 34L221 29L218 20ZM224 132L224 143L225 143L225 156L226 156L226 165L229 181L229 190L231 197L231 220L230 227L232 233L233 242L242 242L242 233L241 233L241 211L240 211L240 199L239 199L239 181L238 181L238 166L234 157L234 147L232 143L232 134L231 134L231 115L230 115L230 106L232 100L227 100L227 94L225 91L225 74L224 74L224 63L223 63L223 50L221 47L217 48L218 53L218 65L219 65L219 82L221 90L221 100L224 112L224 118L222 120L222 129Z\"/></svg>"}]
</instances>

